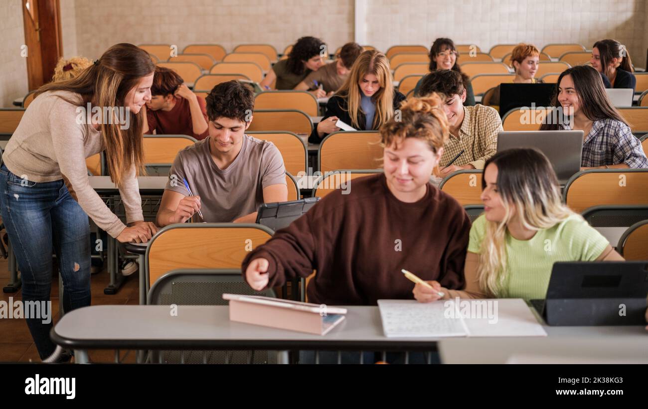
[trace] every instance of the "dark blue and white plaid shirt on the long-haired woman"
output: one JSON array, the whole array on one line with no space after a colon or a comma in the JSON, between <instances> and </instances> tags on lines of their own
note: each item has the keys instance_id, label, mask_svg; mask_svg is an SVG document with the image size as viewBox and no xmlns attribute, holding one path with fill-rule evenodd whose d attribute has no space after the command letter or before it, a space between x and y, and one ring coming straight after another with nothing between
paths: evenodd
<instances>
[{"instance_id":1,"label":"dark blue and white plaid shirt on the long-haired woman","mask_svg":"<svg viewBox=\"0 0 648 409\"><path fill-rule=\"evenodd\" d=\"M562 127L570 129L565 125ZM610 118L594 121L583 142L581 166L594 168L619 163L634 169L648 168L641 142L632 135L630 127L621 121Z\"/></svg>"}]
</instances>

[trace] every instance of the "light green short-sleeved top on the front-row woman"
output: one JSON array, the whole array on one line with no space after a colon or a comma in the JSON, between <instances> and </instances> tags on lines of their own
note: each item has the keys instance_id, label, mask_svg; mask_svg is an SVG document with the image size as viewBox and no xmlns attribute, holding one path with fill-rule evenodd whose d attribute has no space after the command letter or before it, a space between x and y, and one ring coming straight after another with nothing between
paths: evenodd
<instances>
[{"instance_id":1,"label":"light green short-sleeved top on the front-row woman","mask_svg":"<svg viewBox=\"0 0 648 409\"><path fill-rule=\"evenodd\" d=\"M478 217L470 228L468 251L480 253L487 220ZM507 276L500 298L545 298L553 263L594 261L608 245L607 239L583 217L573 215L554 227L539 230L529 240L506 235Z\"/></svg>"}]
</instances>

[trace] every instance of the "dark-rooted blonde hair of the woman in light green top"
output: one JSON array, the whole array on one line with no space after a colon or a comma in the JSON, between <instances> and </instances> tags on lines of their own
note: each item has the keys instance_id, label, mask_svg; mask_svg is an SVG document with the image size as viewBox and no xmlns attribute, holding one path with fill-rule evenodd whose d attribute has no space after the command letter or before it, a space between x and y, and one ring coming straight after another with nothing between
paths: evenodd
<instances>
[{"instance_id":1,"label":"dark-rooted blonde hair of the woman in light green top","mask_svg":"<svg viewBox=\"0 0 648 409\"><path fill-rule=\"evenodd\" d=\"M484 164L497 166L497 190L505 214L500 222L487 221L481 242L477 277L480 287L489 296L502 297L507 280L506 239L512 209L522 227L544 230L564 221L575 213L561 203L556 174L546 156L534 148L508 149L496 153ZM485 178L481 188L486 187Z\"/></svg>"}]
</instances>

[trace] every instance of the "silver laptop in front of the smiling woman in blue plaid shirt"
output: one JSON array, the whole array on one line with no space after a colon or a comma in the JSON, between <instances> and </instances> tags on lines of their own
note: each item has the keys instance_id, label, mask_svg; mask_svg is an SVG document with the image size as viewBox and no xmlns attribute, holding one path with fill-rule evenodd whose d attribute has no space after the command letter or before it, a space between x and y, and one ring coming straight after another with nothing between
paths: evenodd
<instances>
[{"instance_id":1,"label":"silver laptop in front of the smiling woman in blue plaid shirt","mask_svg":"<svg viewBox=\"0 0 648 409\"><path fill-rule=\"evenodd\" d=\"M581 170L583 131L503 131L497 135L497 151L536 148L549 159L558 182L566 184Z\"/></svg>"}]
</instances>

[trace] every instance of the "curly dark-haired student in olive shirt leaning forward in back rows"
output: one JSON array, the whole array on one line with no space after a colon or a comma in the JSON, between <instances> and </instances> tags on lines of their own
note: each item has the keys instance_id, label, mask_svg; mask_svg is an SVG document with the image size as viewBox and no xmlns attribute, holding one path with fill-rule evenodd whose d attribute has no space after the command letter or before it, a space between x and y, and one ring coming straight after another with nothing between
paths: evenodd
<instances>
[{"instance_id":1,"label":"curly dark-haired student in olive shirt leaning forward in back rows","mask_svg":"<svg viewBox=\"0 0 648 409\"><path fill-rule=\"evenodd\" d=\"M325 64L326 46L319 38L302 37L293 45L286 60L279 60L259 83L262 89L294 89L313 71Z\"/></svg>"}]
</instances>

